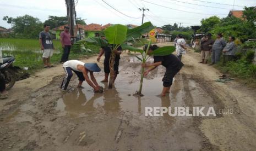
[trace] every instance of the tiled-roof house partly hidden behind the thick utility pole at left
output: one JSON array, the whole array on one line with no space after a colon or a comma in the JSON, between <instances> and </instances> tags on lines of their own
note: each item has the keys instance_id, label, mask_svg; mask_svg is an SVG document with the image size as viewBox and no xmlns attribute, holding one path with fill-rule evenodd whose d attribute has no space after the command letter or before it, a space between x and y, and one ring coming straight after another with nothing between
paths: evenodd
<instances>
[{"instance_id":1,"label":"tiled-roof house partly hidden behind the thick utility pole at left","mask_svg":"<svg viewBox=\"0 0 256 151\"><path fill-rule=\"evenodd\" d=\"M68 26L68 25L63 25L63 26L59 26L59 27L56 27L56 28L52 29L53 31L56 31L56 39L59 39L59 37L61 36L61 32L64 31L65 26ZM84 36L84 28L85 27L86 27L85 25L81 25L81 24L75 25L74 36L78 37L78 38L80 38L80 36L81 36L81 38L84 38L85 37Z\"/></svg>"}]
</instances>

